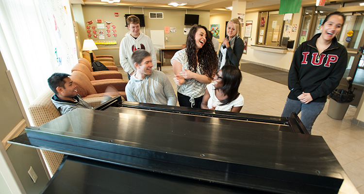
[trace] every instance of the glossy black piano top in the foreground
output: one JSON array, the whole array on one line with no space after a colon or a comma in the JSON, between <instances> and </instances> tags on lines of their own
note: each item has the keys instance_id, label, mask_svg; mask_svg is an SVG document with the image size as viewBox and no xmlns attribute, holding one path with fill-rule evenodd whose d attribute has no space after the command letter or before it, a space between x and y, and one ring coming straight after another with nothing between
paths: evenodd
<instances>
[{"instance_id":1,"label":"glossy black piano top in the foreground","mask_svg":"<svg viewBox=\"0 0 364 194\"><path fill-rule=\"evenodd\" d=\"M200 182L202 188L214 184L232 193L338 193L347 179L323 138L294 133L287 118L219 112L213 117L211 111L165 111L169 107L129 102L118 106L72 111L26 129L13 142L188 179L181 186Z\"/></svg>"}]
</instances>

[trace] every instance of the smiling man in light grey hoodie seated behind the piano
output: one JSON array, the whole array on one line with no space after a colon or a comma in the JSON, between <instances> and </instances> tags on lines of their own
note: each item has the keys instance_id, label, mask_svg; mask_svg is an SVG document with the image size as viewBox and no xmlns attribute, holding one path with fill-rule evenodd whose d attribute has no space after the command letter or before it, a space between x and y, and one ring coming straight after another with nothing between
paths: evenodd
<instances>
[{"instance_id":1,"label":"smiling man in light grey hoodie seated behind the piano","mask_svg":"<svg viewBox=\"0 0 364 194\"><path fill-rule=\"evenodd\" d=\"M167 76L152 69L149 52L140 49L132 53L136 69L125 87L128 101L176 106L177 97Z\"/></svg>"}]
</instances>

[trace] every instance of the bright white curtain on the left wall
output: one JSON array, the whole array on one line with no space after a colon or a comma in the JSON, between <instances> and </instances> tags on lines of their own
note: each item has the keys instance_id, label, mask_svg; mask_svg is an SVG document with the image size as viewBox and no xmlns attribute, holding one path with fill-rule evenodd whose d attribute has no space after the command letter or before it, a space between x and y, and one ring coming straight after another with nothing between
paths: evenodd
<instances>
[{"instance_id":1,"label":"bright white curtain on the left wall","mask_svg":"<svg viewBox=\"0 0 364 194\"><path fill-rule=\"evenodd\" d=\"M0 51L27 110L52 73L78 63L69 1L0 0Z\"/></svg>"}]
</instances>

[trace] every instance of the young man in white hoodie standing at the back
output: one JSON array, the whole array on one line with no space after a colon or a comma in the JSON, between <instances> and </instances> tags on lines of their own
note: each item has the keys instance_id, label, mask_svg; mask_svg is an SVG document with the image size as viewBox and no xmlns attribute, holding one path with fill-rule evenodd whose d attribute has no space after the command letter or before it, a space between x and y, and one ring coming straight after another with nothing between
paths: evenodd
<instances>
[{"instance_id":1,"label":"young man in white hoodie standing at the back","mask_svg":"<svg viewBox=\"0 0 364 194\"><path fill-rule=\"evenodd\" d=\"M119 57L120 65L128 73L128 78L135 73L135 66L132 62L132 53L137 49L145 49L150 53L153 69L157 68L157 57L151 39L140 32L140 20L137 16L131 15L127 18L128 29L130 32L125 34L121 40Z\"/></svg>"}]
</instances>

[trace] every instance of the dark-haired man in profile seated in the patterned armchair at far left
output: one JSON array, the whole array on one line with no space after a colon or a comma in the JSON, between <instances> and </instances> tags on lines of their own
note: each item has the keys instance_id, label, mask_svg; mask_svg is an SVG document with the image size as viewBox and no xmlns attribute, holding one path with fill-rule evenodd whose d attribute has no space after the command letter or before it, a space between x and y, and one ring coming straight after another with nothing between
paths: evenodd
<instances>
[{"instance_id":1,"label":"dark-haired man in profile seated in the patterned armchair at far left","mask_svg":"<svg viewBox=\"0 0 364 194\"><path fill-rule=\"evenodd\" d=\"M51 100L61 114L66 114L77 108L92 107L77 94L76 85L66 73L54 73L48 79L48 85L54 92Z\"/></svg>"}]
</instances>

